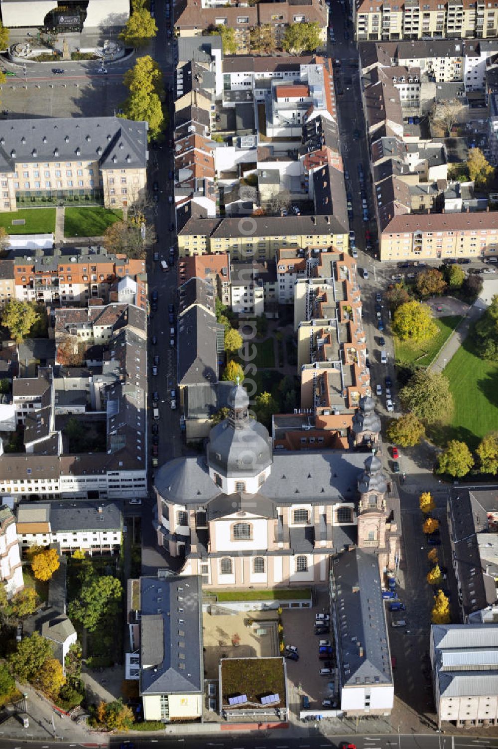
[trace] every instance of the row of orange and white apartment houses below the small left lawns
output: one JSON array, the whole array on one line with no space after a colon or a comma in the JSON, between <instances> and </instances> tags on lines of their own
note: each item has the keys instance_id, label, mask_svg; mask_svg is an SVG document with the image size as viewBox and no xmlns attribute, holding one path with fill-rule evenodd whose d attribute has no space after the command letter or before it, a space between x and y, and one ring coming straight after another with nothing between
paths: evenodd
<instances>
[{"instance_id":1,"label":"row of orange and white apartment houses below the small left lawns","mask_svg":"<svg viewBox=\"0 0 498 749\"><path fill-rule=\"evenodd\" d=\"M108 303L125 296L134 306L147 309L145 259L114 255L103 246L11 251L10 255L13 259L3 262L5 270L13 273L13 296L21 301L65 306L88 300ZM126 287L120 286L125 279Z\"/></svg>"}]
</instances>

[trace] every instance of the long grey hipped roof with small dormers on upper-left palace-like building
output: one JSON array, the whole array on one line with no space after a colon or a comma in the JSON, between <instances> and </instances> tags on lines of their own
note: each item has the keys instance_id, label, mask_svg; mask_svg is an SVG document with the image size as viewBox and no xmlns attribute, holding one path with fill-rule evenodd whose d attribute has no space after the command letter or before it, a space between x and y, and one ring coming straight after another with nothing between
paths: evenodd
<instances>
[{"instance_id":1,"label":"long grey hipped roof with small dormers on upper-left palace-like building","mask_svg":"<svg viewBox=\"0 0 498 749\"><path fill-rule=\"evenodd\" d=\"M0 171L19 162L98 161L100 169L145 169L147 125L118 117L9 120L0 129Z\"/></svg>"}]
</instances>

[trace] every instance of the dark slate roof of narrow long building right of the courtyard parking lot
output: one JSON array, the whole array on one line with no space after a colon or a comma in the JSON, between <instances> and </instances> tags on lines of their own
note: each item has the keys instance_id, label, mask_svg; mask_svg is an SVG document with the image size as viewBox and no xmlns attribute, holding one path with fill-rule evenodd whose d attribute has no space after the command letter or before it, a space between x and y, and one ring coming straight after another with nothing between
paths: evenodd
<instances>
[{"instance_id":1,"label":"dark slate roof of narrow long building right of the courtyard parking lot","mask_svg":"<svg viewBox=\"0 0 498 749\"><path fill-rule=\"evenodd\" d=\"M392 684L377 557L357 548L346 551L333 571L342 684L345 688Z\"/></svg>"}]
</instances>

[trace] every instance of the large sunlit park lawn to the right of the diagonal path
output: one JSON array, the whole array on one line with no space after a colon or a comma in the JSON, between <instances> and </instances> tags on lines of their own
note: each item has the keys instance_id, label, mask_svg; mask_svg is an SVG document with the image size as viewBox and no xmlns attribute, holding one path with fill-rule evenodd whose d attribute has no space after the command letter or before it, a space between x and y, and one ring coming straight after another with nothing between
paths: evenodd
<instances>
[{"instance_id":1,"label":"large sunlit park lawn to the right of the diagonal path","mask_svg":"<svg viewBox=\"0 0 498 749\"><path fill-rule=\"evenodd\" d=\"M462 440L471 450L481 437L494 431L498 423L498 363L476 354L473 333L464 340L446 365L455 410L449 425L431 429L430 436L440 444Z\"/></svg>"}]
</instances>

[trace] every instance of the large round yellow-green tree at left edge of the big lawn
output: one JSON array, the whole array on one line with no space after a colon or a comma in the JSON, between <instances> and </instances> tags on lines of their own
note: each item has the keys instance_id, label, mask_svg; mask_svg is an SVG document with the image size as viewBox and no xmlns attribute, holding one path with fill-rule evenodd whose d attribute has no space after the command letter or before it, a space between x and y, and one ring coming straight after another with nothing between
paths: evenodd
<instances>
[{"instance_id":1,"label":"large round yellow-green tree at left edge of the big lawn","mask_svg":"<svg viewBox=\"0 0 498 749\"><path fill-rule=\"evenodd\" d=\"M440 372L418 369L400 391L401 403L425 424L447 419L453 410L448 379Z\"/></svg>"}]
</instances>

